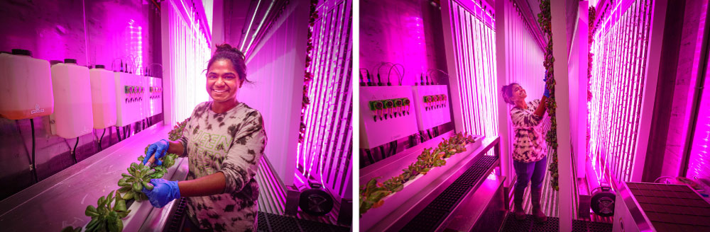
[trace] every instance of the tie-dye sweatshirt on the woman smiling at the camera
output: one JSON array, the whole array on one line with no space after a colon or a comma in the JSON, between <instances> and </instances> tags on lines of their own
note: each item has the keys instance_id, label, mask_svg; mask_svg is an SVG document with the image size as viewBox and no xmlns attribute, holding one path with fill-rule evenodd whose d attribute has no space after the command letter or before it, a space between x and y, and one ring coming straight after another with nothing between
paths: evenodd
<instances>
[{"instance_id":1,"label":"tie-dye sweatshirt on the woman smiling at the camera","mask_svg":"<svg viewBox=\"0 0 710 232\"><path fill-rule=\"evenodd\" d=\"M180 142L190 161L187 180L224 173L224 193L190 197L190 219L212 231L256 231L259 186L255 175L266 146L261 113L244 103L218 114L212 101L192 111Z\"/></svg>"}]
</instances>

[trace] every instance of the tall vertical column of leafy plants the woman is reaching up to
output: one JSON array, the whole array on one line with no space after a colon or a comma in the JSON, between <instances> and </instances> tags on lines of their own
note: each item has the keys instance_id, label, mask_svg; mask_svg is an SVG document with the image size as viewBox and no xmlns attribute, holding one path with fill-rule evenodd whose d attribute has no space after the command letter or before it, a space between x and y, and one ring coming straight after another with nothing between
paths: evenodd
<instances>
[{"instance_id":1,"label":"tall vertical column of leafy plants the woman is reaching up to","mask_svg":"<svg viewBox=\"0 0 710 232\"><path fill-rule=\"evenodd\" d=\"M547 115L550 115L550 131L547 132L545 141L552 147L552 163L547 170L550 170L550 186L559 191L559 173L557 170L557 102L555 101L555 57L552 54L552 14L550 13L550 0L540 1L540 13L537 14L537 23L540 23L542 33L547 37L547 47L545 47L545 88L550 91L550 98L547 99Z\"/></svg>"}]
</instances>

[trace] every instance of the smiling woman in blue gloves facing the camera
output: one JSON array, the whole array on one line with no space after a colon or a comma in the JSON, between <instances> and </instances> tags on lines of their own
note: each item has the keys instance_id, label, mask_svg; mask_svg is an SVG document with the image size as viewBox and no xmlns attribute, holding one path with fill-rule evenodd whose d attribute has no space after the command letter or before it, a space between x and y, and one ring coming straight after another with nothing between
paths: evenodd
<instances>
[{"instance_id":1,"label":"smiling woman in blue gloves facing the camera","mask_svg":"<svg viewBox=\"0 0 710 232\"><path fill-rule=\"evenodd\" d=\"M185 220L185 227L256 231L259 189L254 175L266 146L266 132L261 113L236 99L245 81L249 82L244 54L230 45L217 46L207 64L207 93L212 101L195 107L182 139L163 139L148 147L144 164L153 155L187 156L187 180L153 179L153 190L143 188L153 207L189 197L190 220Z\"/></svg>"}]
</instances>

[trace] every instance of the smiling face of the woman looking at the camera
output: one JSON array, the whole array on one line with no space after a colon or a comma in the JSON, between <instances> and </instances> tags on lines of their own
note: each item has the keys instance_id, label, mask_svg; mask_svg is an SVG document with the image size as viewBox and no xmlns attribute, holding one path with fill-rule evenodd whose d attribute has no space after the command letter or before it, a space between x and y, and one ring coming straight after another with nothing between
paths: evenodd
<instances>
[{"instance_id":1,"label":"smiling face of the woman looking at the camera","mask_svg":"<svg viewBox=\"0 0 710 232\"><path fill-rule=\"evenodd\" d=\"M228 59L218 59L207 70L207 93L216 102L234 100L241 88L239 75Z\"/></svg>"}]
</instances>

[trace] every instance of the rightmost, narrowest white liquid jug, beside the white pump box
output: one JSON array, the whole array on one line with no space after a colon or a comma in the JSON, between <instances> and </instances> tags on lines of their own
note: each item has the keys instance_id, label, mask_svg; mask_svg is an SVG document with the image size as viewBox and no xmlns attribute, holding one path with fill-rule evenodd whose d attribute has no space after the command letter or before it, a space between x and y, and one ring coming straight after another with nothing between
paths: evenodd
<instances>
[{"instance_id":1,"label":"rightmost, narrowest white liquid jug, beside the white pump box","mask_svg":"<svg viewBox=\"0 0 710 232\"><path fill-rule=\"evenodd\" d=\"M114 72L97 65L89 69L91 79L92 111L94 112L94 128L104 129L116 124L116 82Z\"/></svg>"}]
</instances>

